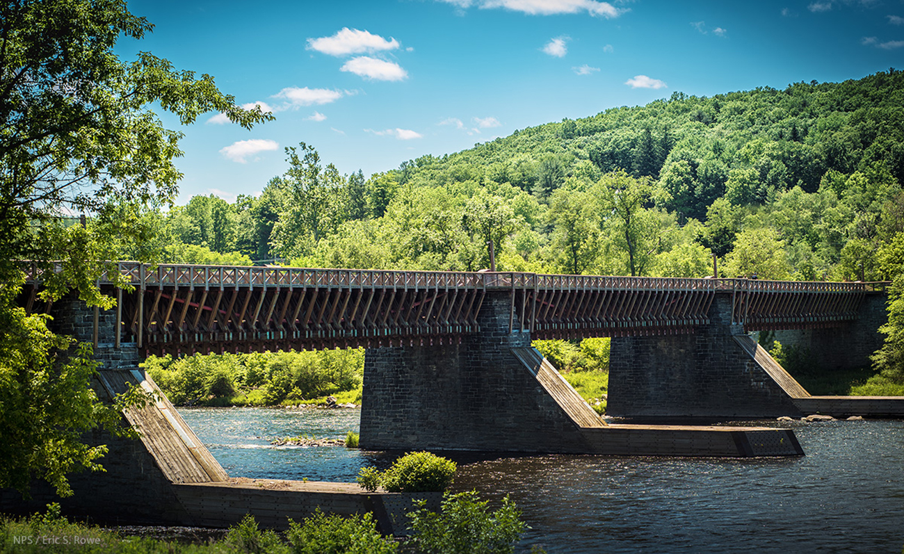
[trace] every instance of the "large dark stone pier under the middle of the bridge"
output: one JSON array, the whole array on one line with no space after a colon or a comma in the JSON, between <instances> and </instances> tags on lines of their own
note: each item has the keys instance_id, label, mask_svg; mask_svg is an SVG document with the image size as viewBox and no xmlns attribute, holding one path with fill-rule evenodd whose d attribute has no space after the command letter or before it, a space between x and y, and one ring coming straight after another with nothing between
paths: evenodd
<instances>
[{"instance_id":1,"label":"large dark stone pier under the middle of the bridge","mask_svg":"<svg viewBox=\"0 0 904 554\"><path fill-rule=\"evenodd\" d=\"M374 450L589 452L586 439L512 352L511 297L487 292L480 333L460 343L369 349L361 446Z\"/></svg>"}]
</instances>

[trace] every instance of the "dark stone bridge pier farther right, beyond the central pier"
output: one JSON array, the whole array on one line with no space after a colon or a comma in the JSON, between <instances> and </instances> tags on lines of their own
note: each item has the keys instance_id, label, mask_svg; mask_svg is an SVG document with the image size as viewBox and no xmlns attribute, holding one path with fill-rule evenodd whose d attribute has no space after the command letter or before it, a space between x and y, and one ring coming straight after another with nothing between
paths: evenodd
<instances>
[{"instance_id":1,"label":"dark stone bridge pier farther right, beyond the central pier","mask_svg":"<svg viewBox=\"0 0 904 554\"><path fill-rule=\"evenodd\" d=\"M799 416L788 391L736 340L731 297L716 295L694 334L616 337L607 415L623 418ZM748 337L739 337L749 340ZM779 368L780 369L780 368Z\"/></svg>"}]
</instances>

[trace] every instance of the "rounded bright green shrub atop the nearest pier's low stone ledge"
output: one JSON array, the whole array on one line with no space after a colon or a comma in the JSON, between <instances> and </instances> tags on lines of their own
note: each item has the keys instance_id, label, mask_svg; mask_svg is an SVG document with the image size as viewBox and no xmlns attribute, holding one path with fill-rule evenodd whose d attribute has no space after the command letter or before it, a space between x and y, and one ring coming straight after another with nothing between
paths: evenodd
<instances>
[{"instance_id":1,"label":"rounded bright green shrub atop the nearest pier's low stone ledge","mask_svg":"<svg viewBox=\"0 0 904 554\"><path fill-rule=\"evenodd\" d=\"M455 462L429 452L410 452L382 474L372 467L364 467L357 481L368 491L381 486L390 493L440 492L452 484L456 467Z\"/></svg>"}]
</instances>

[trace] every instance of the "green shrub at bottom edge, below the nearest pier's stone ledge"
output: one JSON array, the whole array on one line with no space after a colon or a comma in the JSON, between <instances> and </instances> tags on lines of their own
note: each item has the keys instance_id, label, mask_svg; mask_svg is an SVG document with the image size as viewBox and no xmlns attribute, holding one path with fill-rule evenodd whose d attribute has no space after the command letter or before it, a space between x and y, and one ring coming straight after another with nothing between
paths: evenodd
<instances>
[{"instance_id":1,"label":"green shrub at bottom edge, below the nearest pier's stone ledge","mask_svg":"<svg viewBox=\"0 0 904 554\"><path fill-rule=\"evenodd\" d=\"M286 538L295 554L389 554L399 548L377 531L372 514L342 517L319 508L302 523L289 520Z\"/></svg>"}]
</instances>

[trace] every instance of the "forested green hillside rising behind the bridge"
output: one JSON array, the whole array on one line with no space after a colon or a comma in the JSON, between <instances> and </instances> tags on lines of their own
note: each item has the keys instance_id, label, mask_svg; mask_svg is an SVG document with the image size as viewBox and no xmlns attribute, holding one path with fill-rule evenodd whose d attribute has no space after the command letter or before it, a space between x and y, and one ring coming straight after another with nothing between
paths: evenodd
<instances>
[{"instance_id":1,"label":"forested green hillside rising behind the bridge","mask_svg":"<svg viewBox=\"0 0 904 554\"><path fill-rule=\"evenodd\" d=\"M286 154L284 174L249 183L259 196L144 212L155 243L123 258L476 270L492 240L499 270L703 277L715 256L723 277L886 280L904 267L899 70L676 92L370 177L304 143ZM887 329L899 347L879 355L898 371L902 303Z\"/></svg>"}]
</instances>

